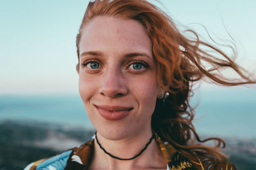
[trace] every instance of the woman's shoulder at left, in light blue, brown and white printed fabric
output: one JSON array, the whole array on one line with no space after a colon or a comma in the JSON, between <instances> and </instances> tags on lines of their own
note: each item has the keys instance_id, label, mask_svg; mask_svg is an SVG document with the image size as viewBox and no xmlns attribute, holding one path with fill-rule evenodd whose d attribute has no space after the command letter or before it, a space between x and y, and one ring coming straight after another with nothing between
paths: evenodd
<instances>
[{"instance_id":1,"label":"woman's shoulder at left, in light blue, brown and white printed fabric","mask_svg":"<svg viewBox=\"0 0 256 170\"><path fill-rule=\"evenodd\" d=\"M90 160L92 150L93 142L90 140L79 147L66 150L53 157L32 162L24 170L64 170L70 169L70 167L71 169L73 169L72 167L84 167Z\"/></svg>"}]
</instances>

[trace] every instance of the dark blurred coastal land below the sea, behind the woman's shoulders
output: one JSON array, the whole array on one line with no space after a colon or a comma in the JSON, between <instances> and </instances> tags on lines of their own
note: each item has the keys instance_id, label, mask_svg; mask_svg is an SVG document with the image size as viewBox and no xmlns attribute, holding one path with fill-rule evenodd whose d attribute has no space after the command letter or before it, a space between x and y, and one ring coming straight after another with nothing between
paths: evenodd
<instances>
[{"instance_id":1,"label":"dark blurred coastal land below the sea, behind the woman's shoulders","mask_svg":"<svg viewBox=\"0 0 256 170\"><path fill-rule=\"evenodd\" d=\"M0 122L0 169L23 169L35 160L81 145L94 132L93 129L61 124L13 120ZM223 139L227 144L225 153L230 155L230 161L237 169L256 169L256 138Z\"/></svg>"}]
</instances>

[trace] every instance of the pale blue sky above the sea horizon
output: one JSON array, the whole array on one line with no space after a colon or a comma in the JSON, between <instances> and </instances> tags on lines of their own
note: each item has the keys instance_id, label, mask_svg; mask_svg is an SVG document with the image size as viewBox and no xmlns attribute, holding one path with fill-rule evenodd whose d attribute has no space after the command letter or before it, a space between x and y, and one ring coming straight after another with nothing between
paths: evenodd
<instances>
[{"instance_id":1,"label":"pale blue sky above the sea horizon","mask_svg":"<svg viewBox=\"0 0 256 170\"><path fill-rule=\"evenodd\" d=\"M236 40L238 61L254 69L256 1L161 2L173 20L203 35L202 27L190 23L228 38L224 22ZM76 34L87 4L85 0L0 1L0 94L77 94Z\"/></svg>"}]
</instances>

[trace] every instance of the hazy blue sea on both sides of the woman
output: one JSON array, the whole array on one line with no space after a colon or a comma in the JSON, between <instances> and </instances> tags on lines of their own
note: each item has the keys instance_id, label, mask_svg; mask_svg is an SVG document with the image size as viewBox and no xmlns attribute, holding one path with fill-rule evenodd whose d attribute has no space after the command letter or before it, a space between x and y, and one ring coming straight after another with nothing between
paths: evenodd
<instances>
[{"instance_id":1,"label":"hazy blue sea on both sides of the woman","mask_svg":"<svg viewBox=\"0 0 256 170\"><path fill-rule=\"evenodd\" d=\"M207 136L256 138L256 89L206 88L191 97L194 125ZM93 128L77 95L0 96L0 121L47 122Z\"/></svg>"}]
</instances>

